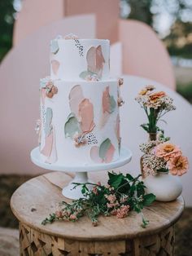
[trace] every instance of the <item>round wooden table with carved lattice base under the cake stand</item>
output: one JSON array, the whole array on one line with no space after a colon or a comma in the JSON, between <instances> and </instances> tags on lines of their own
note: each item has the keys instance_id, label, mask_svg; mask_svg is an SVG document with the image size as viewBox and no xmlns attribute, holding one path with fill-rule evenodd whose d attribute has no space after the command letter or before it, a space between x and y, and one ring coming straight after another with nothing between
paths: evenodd
<instances>
[{"instance_id":1,"label":"round wooden table with carved lattice base under the cake stand","mask_svg":"<svg viewBox=\"0 0 192 256\"><path fill-rule=\"evenodd\" d=\"M174 224L180 218L184 201L155 202L143 210L150 221L141 227L140 214L127 218L100 217L93 227L87 217L76 223L41 221L66 200L62 188L71 180L68 174L43 174L22 184L11 197L11 209L20 221L20 255L174 255Z\"/></svg>"}]
</instances>

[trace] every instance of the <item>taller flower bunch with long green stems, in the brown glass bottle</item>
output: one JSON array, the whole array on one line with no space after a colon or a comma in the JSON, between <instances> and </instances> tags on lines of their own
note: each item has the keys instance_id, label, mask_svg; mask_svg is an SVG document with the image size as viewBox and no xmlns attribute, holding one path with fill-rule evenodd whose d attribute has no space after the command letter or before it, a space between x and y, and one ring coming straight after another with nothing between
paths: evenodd
<instances>
[{"instance_id":1,"label":"taller flower bunch with long green stems, in the brown glass bottle","mask_svg":"<svg viewBox=\"0 0 192 256\"><path fill-rule=\"evenodd\" d=\"M145 110L148 123L142 124L142 128L149 134L154 134L159 130L157 123L161 117L176 109L172 104L173 99L164 91L155 91L155 86L144 87L135 99Z\"/></svg>"}]
</instances>

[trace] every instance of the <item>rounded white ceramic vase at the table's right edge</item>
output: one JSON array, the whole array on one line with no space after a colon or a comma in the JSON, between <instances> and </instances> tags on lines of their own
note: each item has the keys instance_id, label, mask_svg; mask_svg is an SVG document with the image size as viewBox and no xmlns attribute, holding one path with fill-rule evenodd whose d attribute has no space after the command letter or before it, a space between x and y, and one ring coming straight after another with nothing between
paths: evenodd
<instances>
[{"instance_id":1,"label":"rounded white ceramic vase at the table's right edge","mask_svg":"<svg viewBox=\"0 0 192 256\"><path fill-rule=\"evenodd\" d=\"M173 201L181 195L181 180L168 172L159 172L155 176L143 179L147 193L153 193L156 201Z\"/></svg>"}]
</instances>

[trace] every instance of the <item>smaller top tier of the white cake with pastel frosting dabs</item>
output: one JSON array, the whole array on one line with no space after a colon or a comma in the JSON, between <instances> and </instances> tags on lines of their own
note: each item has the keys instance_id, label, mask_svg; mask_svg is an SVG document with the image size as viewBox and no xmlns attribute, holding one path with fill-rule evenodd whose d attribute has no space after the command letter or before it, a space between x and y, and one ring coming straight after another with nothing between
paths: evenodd
<instances>
[{"instance_id":1,"label":"smaller top tier of the white cake with pastel frosting dabs","mask_svg":"<svg viewBox=\"0 0 192 256\"><path fill-rule=\"evenodd\" d=\"M110 42L57 37L50 42L50 77L63 80L109 79Z\"/></svg>"}]
</instances>

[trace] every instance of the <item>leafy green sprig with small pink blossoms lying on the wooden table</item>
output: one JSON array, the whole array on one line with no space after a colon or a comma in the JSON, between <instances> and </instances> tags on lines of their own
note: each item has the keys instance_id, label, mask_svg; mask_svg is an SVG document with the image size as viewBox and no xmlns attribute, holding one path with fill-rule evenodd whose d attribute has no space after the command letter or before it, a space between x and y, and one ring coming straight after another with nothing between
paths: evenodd
<instances>
[{"instance_id":1,"label":"leafy green sprig with small pink blossoms lying on the wooden table","mask_svg":"<svg viewBox=\"0 0 192 256\"><path fill-rule=\"evenodd\" d=\"M45 218L42 224L53 223L56 220L75 222L87 215L92 224L97 226L99 215L116 215L117 218L124 218L131 210L142 214L143 207L155 201L155 195L146 194L145 186L140 180L141 174L133 178L130 174L109 172L108 177L106 186L101 183L74 183L74 188L82 186L83 197L72 201L71 204L61 202L59 209ZM89 185L92 189L89 189ZM147 223L142 214L142 227L146 227Z\"/></svg>"}]
</instances>

